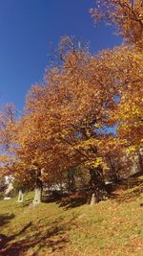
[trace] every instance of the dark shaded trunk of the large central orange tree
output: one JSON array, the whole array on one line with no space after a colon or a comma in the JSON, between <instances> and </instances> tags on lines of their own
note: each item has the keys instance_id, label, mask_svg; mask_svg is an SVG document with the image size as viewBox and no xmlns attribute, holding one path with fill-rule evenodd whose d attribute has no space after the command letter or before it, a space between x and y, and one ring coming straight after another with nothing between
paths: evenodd
<instances>
[{"instance_id":1,"label":"dark shaded trunk of the large central orange tree","mask_svg":"<svg viewBox=\"0 0 143 256\"><path fill-rule=\"evenodd\" d=\"M94 194L95 202L105 200L108 193L106 191L102 168L90 168L90 175L90 187Z\"/></svg>"}]
</instances>

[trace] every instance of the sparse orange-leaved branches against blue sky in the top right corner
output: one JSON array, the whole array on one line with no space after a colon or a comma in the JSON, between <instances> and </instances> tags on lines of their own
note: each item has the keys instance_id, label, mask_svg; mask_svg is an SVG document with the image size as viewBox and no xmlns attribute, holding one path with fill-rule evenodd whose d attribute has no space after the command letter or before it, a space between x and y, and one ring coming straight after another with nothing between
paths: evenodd
<instances>
[{"instance_id":1,"label":"sparse orange-leaved branches against blue sky in the top right corner","mask_svg":"<svg viewBox=\"0 0 143 256\"><path fill-rule=\"evenodd\" d=\"M115 25L117 33L122 35L127 42L142 48L142 0L97 0L91 13L95 23L103 20L108 25Z\"/></svg>"}]
</instances>

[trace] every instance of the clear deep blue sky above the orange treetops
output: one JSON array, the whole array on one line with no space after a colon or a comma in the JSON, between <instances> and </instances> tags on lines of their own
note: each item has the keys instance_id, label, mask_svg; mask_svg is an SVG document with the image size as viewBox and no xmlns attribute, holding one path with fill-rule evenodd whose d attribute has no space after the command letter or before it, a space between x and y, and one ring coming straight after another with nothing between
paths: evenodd
<instances>
[{"instance_id":1,"label":"clear deep blue sky above the orange treetops","mask_svg":"<svg viewBox=\"0 0 143 256\"><path fill-rule=\"evenodd\" d=\"M91 42L92 53L121 44L112 28L93 26L93 0L0 0L0 105L23 108L25 96L42 81L50 44L62 35Z\"/></svg>"}]
</instances>

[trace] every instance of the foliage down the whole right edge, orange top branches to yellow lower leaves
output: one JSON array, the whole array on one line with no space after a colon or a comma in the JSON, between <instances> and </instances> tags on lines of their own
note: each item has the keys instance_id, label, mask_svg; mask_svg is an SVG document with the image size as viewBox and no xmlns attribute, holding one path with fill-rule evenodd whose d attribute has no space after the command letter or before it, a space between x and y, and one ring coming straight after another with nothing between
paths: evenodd
<instances>
[{"instance_id":1,"label":"foliage down the whole right edge, orange top branches to yellow lower leaves","mask_svg":"<svg viewBox=\"0 0 143 256\"><path fill-rule=\"evenodd\" d=\"M95 22L104 20L108 24L115 25L117 33L123 36L127 45L120 47L116 59L117 82L122 86L114 117L118 123L118 136L126 140L125 147L131 157L138 155L139 169L142 169L143 2L99 0L96 1L96 7L91 12Z\"/></svg>"}]
</instances>

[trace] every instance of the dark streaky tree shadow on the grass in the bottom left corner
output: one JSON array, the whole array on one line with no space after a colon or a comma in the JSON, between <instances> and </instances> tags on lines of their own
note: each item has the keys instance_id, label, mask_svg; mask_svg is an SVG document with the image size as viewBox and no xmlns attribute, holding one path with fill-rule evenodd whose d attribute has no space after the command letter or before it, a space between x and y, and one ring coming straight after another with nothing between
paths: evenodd
<instances>
[{"instance_id":1,"label":"dark streaky tree shadow on the grass in the bottom left corner","mask_svg":"<svg viewBox=\"0 0 143 256\"><path fill-rule=\"evenodd\" d=\"M30 228L30 230L27 230ZM45 228L45 226L43 226ZM32 230L32 235L31 235ZM28 231L28 236L21 239L18 242L14 240L20 235L27 235L25 232ZM0 235L1 237L1 246L0 246L0 255L1 256L21 256L26 253L29 249L33 249L32 255L38 255L38 252L42 247L50 249L52 252L57 248L62 249L65 244L69 243L69 239L66 234L67 228L65 225L61 224L61 220L53 221L51 223L51 228L48 229L44 234L38 230L37 226L31 225L29 222L20 232L16 233L13 236L6 237ZM33 248L36 246L36 251ZM34 254L35 253L35 254Z\"/></svg>"}]
</instances>

